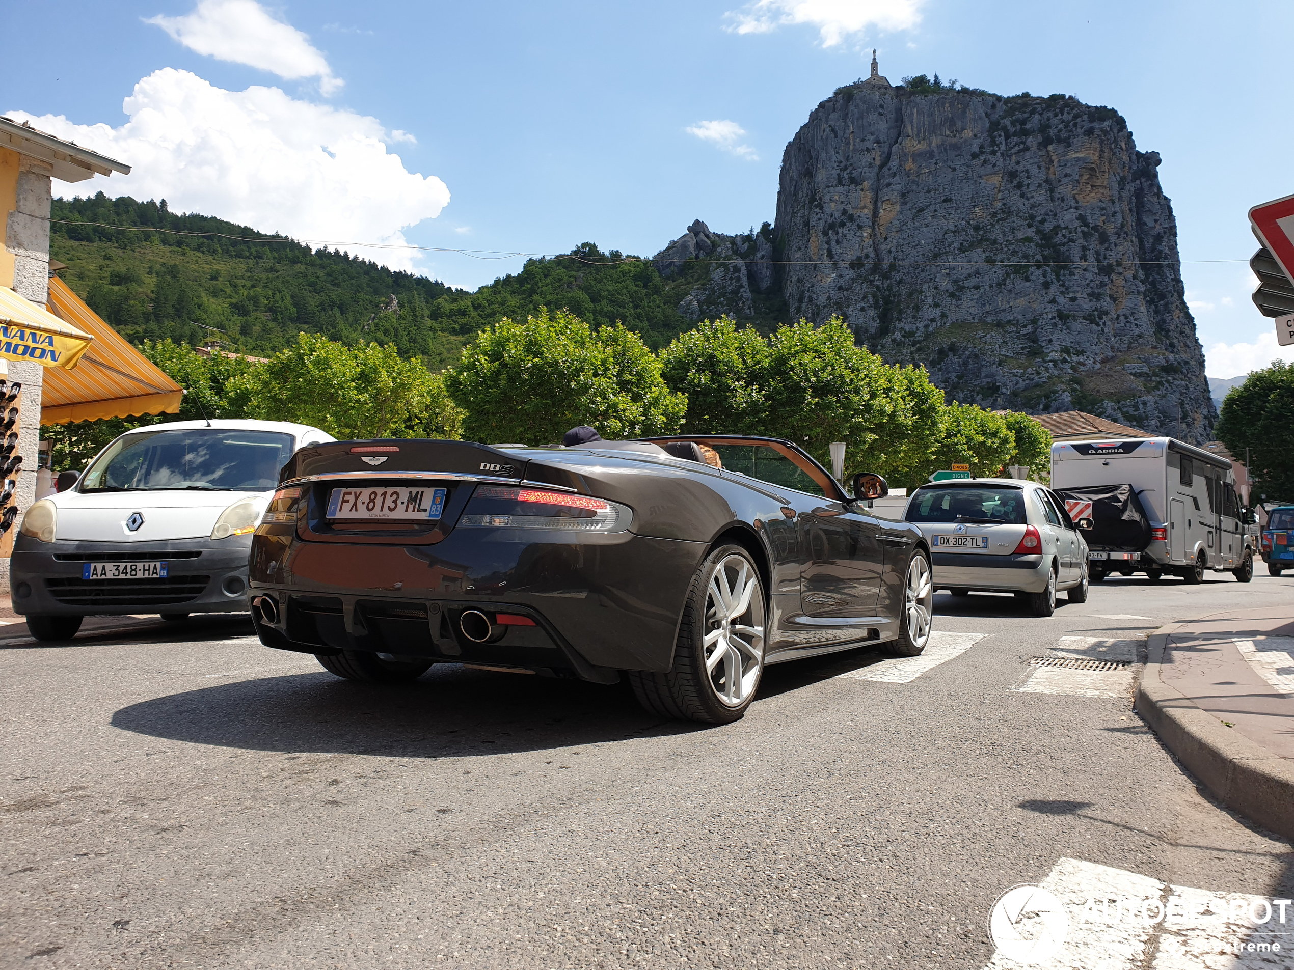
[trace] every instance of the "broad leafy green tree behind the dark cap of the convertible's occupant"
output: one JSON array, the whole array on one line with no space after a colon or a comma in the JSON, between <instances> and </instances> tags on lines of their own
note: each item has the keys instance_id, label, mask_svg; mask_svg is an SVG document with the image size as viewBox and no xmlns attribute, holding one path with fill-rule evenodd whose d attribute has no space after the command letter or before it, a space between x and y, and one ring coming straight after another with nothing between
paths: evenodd
<instances>
[{"instance_id":1,"label":"broad leafy green tree behind the dark cap of the convertible's occupant","mask_svg":"<svg viewBox=\"0 0 1294 970\"><path fill-rule=\"evenodd\" d=\"M594 331L565 310L483 330L445 371L445 387L475 441L542 445L577 424L606 438L668 435L687 409L637 334L620 323Z\"/></svg>"}]
</instances>

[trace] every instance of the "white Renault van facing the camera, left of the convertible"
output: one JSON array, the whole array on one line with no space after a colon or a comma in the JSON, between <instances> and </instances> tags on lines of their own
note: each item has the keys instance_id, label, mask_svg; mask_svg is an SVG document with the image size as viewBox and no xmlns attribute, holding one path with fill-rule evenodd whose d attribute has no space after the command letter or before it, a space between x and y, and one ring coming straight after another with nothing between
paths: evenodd
<instances>
[{"instance_id":1,"label":"white Renault van facing the camera, left of the convertible","mask_svg":"<svg viewBox=\"0 0 1294 970\"><path fill-rule=\"evenodd\" d=\"M251 533L299 447L334 441L304 424L173 422L114 438L66 491L23 516L10 600L38 640L101 614L248 609Z\"/></svg>"}]
</instances>

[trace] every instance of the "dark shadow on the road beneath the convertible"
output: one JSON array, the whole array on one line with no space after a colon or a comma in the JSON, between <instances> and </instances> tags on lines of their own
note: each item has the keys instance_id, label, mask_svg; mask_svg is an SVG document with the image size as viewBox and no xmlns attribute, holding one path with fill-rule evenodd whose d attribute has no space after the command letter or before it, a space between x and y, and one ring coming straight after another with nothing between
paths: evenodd
<instances>
[{"instance_id":1,"label":"dark shadow on the road beneath the convertible","mask_svg":"<svg viewBox=\"0 0 1294 970\"><path fill-rule=\"evenodd\" d=\"M626 684L453 663L393 687L340 680L324 670L223 683L122 707L111 723L138 735L221 748L388 758L534 751L710 727L647 714Z\"/></svg>"}]
</instances>

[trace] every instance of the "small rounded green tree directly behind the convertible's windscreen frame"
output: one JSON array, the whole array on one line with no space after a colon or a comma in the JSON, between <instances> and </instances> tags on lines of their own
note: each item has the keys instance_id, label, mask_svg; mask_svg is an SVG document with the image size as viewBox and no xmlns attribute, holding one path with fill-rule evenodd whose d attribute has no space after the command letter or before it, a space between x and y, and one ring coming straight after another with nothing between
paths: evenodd
<instances>
[{"instance_id":1,"label":"small rounded green tree directly behind the convertible's windscreen frame","mask_svg":"<svg viewBox=\"0 0 1294 970\"><path fill-rule=\"evenodd\" d=\"M661 376L687 396L683 431L765 433L769 341L731 317L703 321L660 352Z\"/></svg>"}]
</instances>

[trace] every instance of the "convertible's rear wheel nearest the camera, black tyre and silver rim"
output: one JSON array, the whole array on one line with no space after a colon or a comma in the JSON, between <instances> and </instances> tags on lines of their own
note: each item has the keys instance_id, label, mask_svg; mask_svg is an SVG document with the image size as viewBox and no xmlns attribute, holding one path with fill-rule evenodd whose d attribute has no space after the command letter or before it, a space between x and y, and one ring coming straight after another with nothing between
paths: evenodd
<instances>
[{"instance_id":1,"label":"convertible's rear wheel nearest the camera, black tyre and silver rim","mask_svg":"<svg viewBox=\"0 0 1294 970\"><path fill-rule=\"evenodd\" d=\"M739 720L763 676L766 617L763 581L751 554L741 546L714 550L688 586L672 669L626 671L638 702L663 718Z\"/></svg>"}]
</instances>

